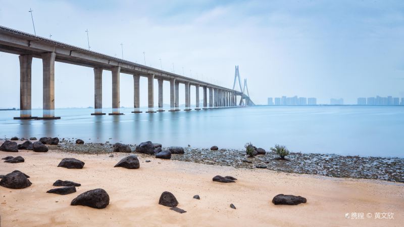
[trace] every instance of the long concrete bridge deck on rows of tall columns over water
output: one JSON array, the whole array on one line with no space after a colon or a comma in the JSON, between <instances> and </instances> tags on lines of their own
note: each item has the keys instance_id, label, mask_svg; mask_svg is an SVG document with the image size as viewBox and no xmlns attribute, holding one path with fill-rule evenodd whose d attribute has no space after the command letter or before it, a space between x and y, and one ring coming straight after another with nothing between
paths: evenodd
<instances>
[{"instance_id":1,"label":"long concrete bridge deck on rows of tall columns over water","mask_svg":"<svg viewBox=\"0 0 404 227\"><path fill-rule=\"evenodd\" d=\"M91 67L94 69L94 113L103 113L103 70L112 71L112 113L120 113L120 73L133 75L134 81L134 111L140 111L140 76L147 78L147 113L155 113L154 80L158 80L158 110L163 110L163 80L170 82L170 110L179 111L179 83L185 85L185 111L190 108L190 86L196 87L196 108L199 108L199 87L203 87L203 109L236 107L237 97L240 104L251 104L243 90L237 91L218 86L205 81L185 77L175 73L159 70L153 67L133 63L105 54L71 46L52 39L39 37L22 31L0 26L0 51L19 55L20 61L20 116L14 119L59 119L55 116L55 61L68 64ZM32 58L42 59L43 70L43 116L31 115L31 63ZM238 68L237 68L238 71ZM246 84L245 84L246 85ZM209 100L208 100L209 90ZM208 103L209 102L209 103ZM253 103L252 103L253 104ZM209 105L209 106L208 106Z\"/></svg>"}]
</instances>

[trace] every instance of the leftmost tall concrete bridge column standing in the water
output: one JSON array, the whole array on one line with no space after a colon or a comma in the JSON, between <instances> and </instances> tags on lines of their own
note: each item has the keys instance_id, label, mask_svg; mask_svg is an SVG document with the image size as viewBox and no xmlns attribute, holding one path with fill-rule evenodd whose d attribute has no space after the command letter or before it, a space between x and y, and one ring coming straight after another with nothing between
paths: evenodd
<instances>
[{"instance_id":1,"label":"leftmost tall concrete bridge column standing in the water","mask_svg":"<svg viewBox=\"0 0 404 227\"><path fill-rule=\"evenodd\" d=\"M14 119L35 119L31 116L31 65L32 55L20 55L20 117Z\"/></svg>"}]
</instances>

